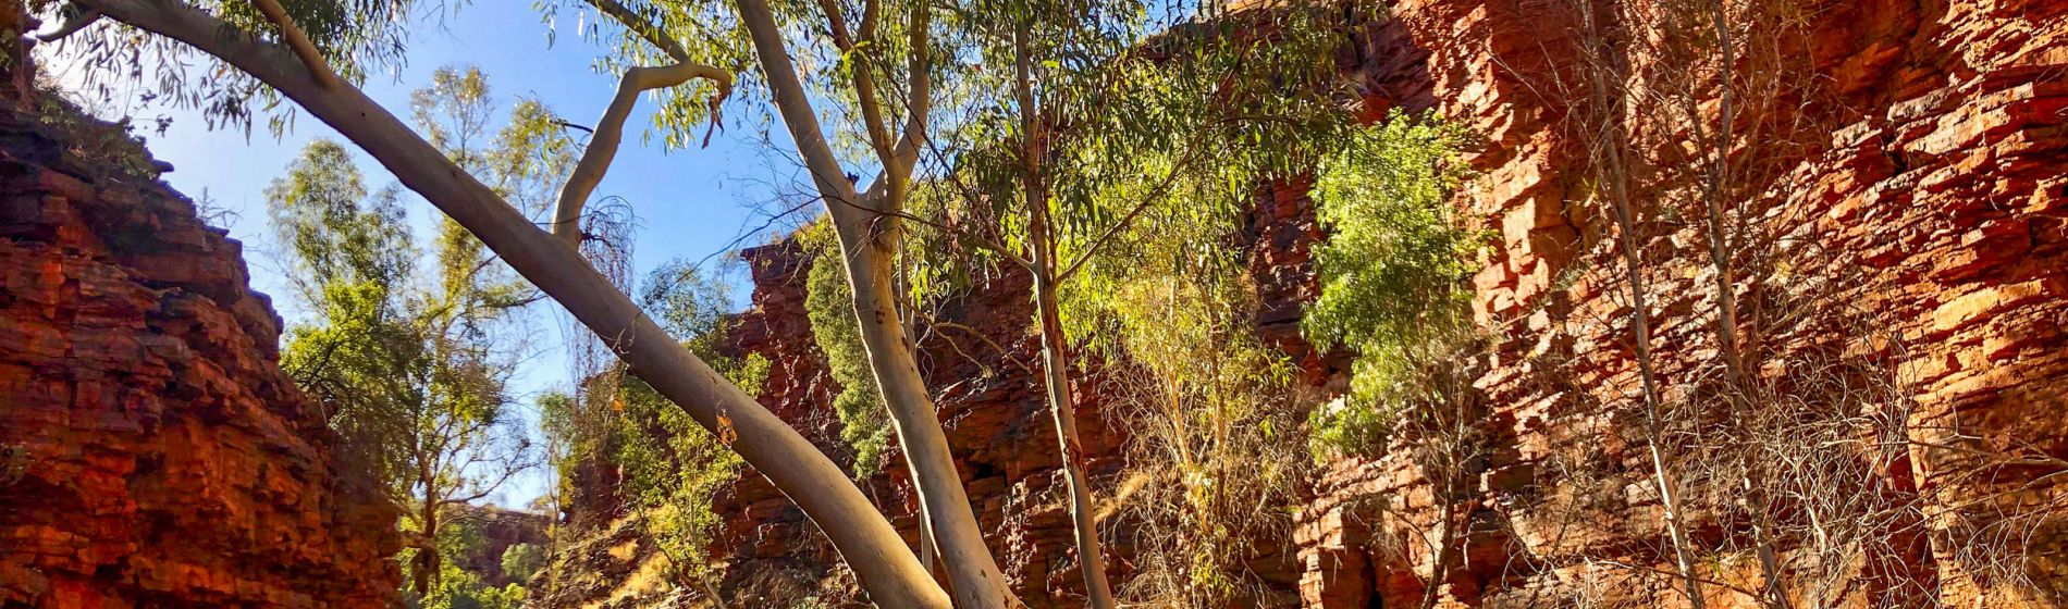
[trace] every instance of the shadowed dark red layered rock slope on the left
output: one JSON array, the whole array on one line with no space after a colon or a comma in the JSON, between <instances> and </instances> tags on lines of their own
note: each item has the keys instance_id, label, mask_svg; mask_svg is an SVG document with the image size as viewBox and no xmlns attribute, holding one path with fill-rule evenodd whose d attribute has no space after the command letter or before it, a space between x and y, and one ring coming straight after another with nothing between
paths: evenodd
<instances>
[{"instance_id":1,"label":"shadowed dark red layered rock slope on the left","mask_svg":"<svg viewBox=\"0 0 2068 609\"><path fill-rule=\"evenodd\" d=\"M0 605L387 607L397 514L240 244L103 136L0 109Z\"/></svg>"}]
</instances>

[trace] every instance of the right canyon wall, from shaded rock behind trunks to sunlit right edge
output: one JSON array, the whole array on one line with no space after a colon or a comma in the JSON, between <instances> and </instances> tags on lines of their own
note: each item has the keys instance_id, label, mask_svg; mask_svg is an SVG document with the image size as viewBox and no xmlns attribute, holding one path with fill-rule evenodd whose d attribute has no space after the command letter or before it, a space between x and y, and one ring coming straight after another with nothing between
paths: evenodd
<instances>
[{"instance_id":1,"label":"right canyon wall, from shaded rock behind trunks to sunlit right edge","mask_svg":"<svg viewBox=\"0 0 2068 609\"><path fill-rule=\"evenodd\" d=\"M1596 188L1601 149L1590 134L1607 122L1628 134L1632 192L1648 209L1638 246L1650 283L1642 303L1652 341L1665 345L1659 378L1669 396L1698 403L1685 396L1716 376L1716 295L1702 211L1675 182L1685 169L1675 165L1685 159L1675 142L1694 134L1659 116L1603 111L1586 93L1592 43L1619 58L1619 95L1663 89L1648 78L1675 66L1646 56L1654 25L1640 17L1665 4L1402 0L1352 25L1338 64L1363 97L1365 120L1396 107L1435 111L1479 136L1468 155L1477 178L1456 204L1495 235L1472 277L1472 312L1491 343L1468 361L1474 400L1485 405L1477 415L1483 458L1452 500L1462 547L1435 576L1433 597L1429 574L1439 562L1429 537L1441 510L1410 454L1390 452L1334 460L1297 489L1313 500L1295 539L1247 562L1274 588L1253 605L1421 607L1425 597L1443 607L1687 605L1661 576L1673 564L1632 421L1640 374L1628 339L1628 266ZM1772 355L1758 376L1787 380L1789 365L1820 353L1865 361L1903 394L1890 403L1903 403L1896 419L1911 440L1874 462L1876 477L1890 493L1921 498L1915 506L1958 506L1917 510L1907 533L1859 557L1853 584L1797 603L2054 607L2060 599L2049 595L2068 578L2058 518L2018 528L2029 553L2012 570L2037 590L2006 590L2000 572L1960 549L1965 535L1989 531L1991 514L2054 510L2068 495L2056 481L2068 464L2068 6L1733 6L1766 4L1785 4L1791 21L1745 47L1785 50L1781 72L1793 81L1745 103L1745 116L1785 118L1791 128L1785 147L1733 149L1739 165L1762 169L1747 171L1756 184L1739 186L1750 196L1729 211L1745 256L1735 293L1745 303L1741 324ZM1582 6L1601 21L1586 23ZM1747 54L1733 70L1754 72L1758 60ZM1743 78L1750 89L1754 78ZM1714 118L1719 105L1710 91L1694 95L1692 107ZM1756 128L1766 126L1745 130ZM1340 392L1342 355L1317 353L1297 332L1315 297L1307 252L1321 237L1303 188L1276 184L1259 192L1241 246L1259 289L1259 334L1299 363L1307 384ZM732 349L773 363L765 405L835 458L850 458L829 407L835 384L804 314L809 256L788 242L744 256L755 306ZM1053 427L1038 378L1022 367L1038 361L1026 279L991 277L941 318L970 332L929 332L920 367L941 392L941 421L991 545L1024 601L1079 607ZM1077 390L1094 493L1108 495L1127 436L1111 425L1098 394ZM1716 413L1768 415L1760 405ZM2010 458L1979 462L1975 454ZM916 543L916 504L898 460L891 454L864 487ZM591 493L591 502L606 498ZM720 512L713 557L728 566L722 588L736 605L852 599L838 555L759 475L749 471L726 489ZM1698 545L1727 547L1747 524L1692 510L1687 526ZM1121 520L1102 535L1113 576L1125 582L1133 533ZM629 545L637 545L629 533L610 543ZM1725 582L1708 586L1710 607L1756 603L1743 592L1756 588L1745 566L1712 572Z\"/></svg>"}]
</instances>

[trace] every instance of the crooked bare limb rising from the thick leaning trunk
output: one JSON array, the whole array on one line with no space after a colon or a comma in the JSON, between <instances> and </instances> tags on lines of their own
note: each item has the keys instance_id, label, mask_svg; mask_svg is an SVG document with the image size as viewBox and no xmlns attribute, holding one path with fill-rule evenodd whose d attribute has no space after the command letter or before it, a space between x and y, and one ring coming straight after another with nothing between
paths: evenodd
<instances>
[{"instance_id":1,"label":"crooked bare limb rising from the thick leaning trunk","mask_svg":"<svg viewBox=\"0 0 2068 609\"><path fill-rule=\"evenodd\" d=\"M711 66L674 64L625 70L625 78L618 81L618 95L610 97L604 118L596 120L589 147L581 151L581 161L575 163L575 171L560 186L560 200L552 213L554 237L560 237L571 248L581 246L581 209L587 206L596 184L604 182L610 161L618 157L618 142L625 138L625 118L633 114L639 93L676 87L691 78L707 78L718 85L713 105L732 93L732 74Z\"/></svg>"}]
</instances>

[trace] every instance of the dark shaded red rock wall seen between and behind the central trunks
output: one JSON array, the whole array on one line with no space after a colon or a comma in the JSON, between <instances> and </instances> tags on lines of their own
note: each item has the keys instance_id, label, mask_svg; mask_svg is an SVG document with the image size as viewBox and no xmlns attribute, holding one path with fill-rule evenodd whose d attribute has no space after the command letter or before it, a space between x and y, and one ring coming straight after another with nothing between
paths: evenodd
<instances>
[{"instance_id":1,"label":"dark shaded red rock wall seen between and behind the central trunks","mask_svg":"<svg viewBox=\"0 0 2068 609\"><path fill-rule=\"evenodd\" d=\"M744 312L726 341L732 355L759 353L769 359L769 378L761 403L804 431L819 450L850 467L854 452L840 440L840 419L831 396L840 390L825 355L819 351L811 318L804 310L813 254L794 242L778 242L742 252L755 291L753 308ZM1073 568L1071 524L1063 495L1061 458L1055 450L1055 427L1046 415L1042 390L1024 367L1038 361L1038 341L1028 334L1032 308L1024 275L991 277L941 312L957 320L966 334L929 334L920 341L920 370L939 392L939 411L947 440L953 446L957 471L976 504L978 524L997 531L991 539L999 566L1017 592L1034 607L1082 605L1082 580ZM978 336L980 334L980 336ZM986 345L995 341L997 345ZM1090 471L1117 471L1121 436L1100 417L1094 394L1084 400L1082 431ZM904 456L891 450L879 475L862 481L864 491L891 516L891 522L918 545L918 495L902 469ZM577 491L569 512L614 514L608 489ZM788 498L767 479L744 471L716 500L722 531L716 535L713 559L724 566L722 590L738 607L788 607L798 599L817 597L840 605L854 601L854 582L842 580L840 555ZM606 524L608 526L608 524ZM1123 545L1123 543L1119 543ZM633 551L637 547L637 551ZM608 555L618 549L618 555ZM587 549L577 549L587 570L633 578L651 559L651 547L629 526L614 526ZM1125 549L1117 549L1125 551ZM1290 555L1284 580L1290 572ZM571 590L548 590L548 607L579 607L606 599L631 599L622 582L606 582ZM660 603L666 595L647 595ZM653 607L653 605L641 605Z\"/></svg>"}]
</instances>

